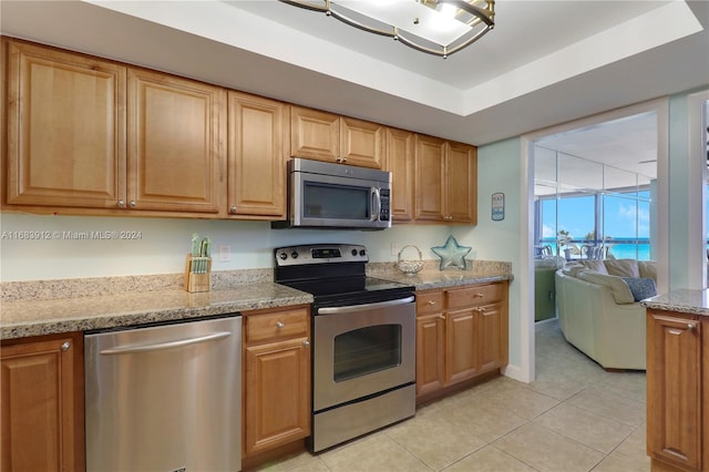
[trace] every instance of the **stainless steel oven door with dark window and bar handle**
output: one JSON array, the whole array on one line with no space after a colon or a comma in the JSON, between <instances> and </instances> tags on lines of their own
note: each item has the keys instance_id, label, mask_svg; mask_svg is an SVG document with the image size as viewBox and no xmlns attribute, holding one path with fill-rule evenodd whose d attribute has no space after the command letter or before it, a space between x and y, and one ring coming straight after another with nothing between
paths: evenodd
<instances>
[{"instance_id":1,"label":"stainless steel oven door with dark window and bar handle","mask_svg":"<svg viewBox=\"0 0 709 472\"><path fill-rule=\"evenodd\" d=\"M414 297L317 309L314 411L415 381Z\"/></svg>"}]
</instances>

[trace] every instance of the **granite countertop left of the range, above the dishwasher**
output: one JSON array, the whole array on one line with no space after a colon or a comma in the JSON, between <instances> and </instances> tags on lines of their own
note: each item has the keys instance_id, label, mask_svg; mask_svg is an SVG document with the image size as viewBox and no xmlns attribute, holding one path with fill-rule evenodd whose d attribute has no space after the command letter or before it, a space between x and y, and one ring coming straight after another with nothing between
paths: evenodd
<instances>
[{"instance_id":1,"label":"granite countertop left of the range, above the dishwasher","mask_svg":"<svg viewBox=\"0 0 709 472\"><path fill-rule=\"evenodd\" d=\"M86 331L311 304L312 296L273 283L191 294L179 289L3 301L0 339Z\"/></svg>"}]
</instances>

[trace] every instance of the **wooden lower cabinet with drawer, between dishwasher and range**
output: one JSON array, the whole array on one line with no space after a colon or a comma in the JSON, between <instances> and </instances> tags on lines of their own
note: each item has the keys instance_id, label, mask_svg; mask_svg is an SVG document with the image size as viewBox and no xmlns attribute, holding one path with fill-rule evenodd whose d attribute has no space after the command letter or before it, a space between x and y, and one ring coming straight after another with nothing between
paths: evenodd
<instances>
[{"instance_id":1,"label":"wooden lower cabinet with drawer, between dishwasher and range","mask_svg":"<svg viewBox=\"0 0 709 472\"><path fill-rule=\"evenodd\" d=\"M244 458L310 434L308 307L244 314Z\"/></svg>"}]
</instances>

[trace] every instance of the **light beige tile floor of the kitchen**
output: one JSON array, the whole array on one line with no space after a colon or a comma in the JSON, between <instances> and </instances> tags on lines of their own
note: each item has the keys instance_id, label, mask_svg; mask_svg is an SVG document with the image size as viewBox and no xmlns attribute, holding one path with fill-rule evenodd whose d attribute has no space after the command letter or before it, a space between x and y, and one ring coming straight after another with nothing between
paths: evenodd
<instances>
[{"instance_id":1,"label":"light beige tile floor of the kitchen","mask_svg":"<svg viewBox=\"0 0 709 472\"><path fill-rule=\"evenodd\" d=\"M635 472L645 453L645 372L606 372L537 326L536 380L493 379L410 420L317 455L261 468L331 472Z\"/></svg>"}]
</instances>

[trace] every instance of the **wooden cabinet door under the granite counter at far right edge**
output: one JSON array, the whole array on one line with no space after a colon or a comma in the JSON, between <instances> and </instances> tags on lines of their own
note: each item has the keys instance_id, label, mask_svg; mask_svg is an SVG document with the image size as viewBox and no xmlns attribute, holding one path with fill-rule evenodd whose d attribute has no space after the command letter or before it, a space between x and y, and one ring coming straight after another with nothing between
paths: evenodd
<instances>
[{"instance_id":1,"label":"wooden cabinet door under the granite counter at far right edge","mask_svg":"<svg viewBox=\"0 0 709 472\"><path fill-rule=\"evenodd\" d=\"M649 311L648 452L701 470L701 324Z\"/></svg>"}]
</instances>

